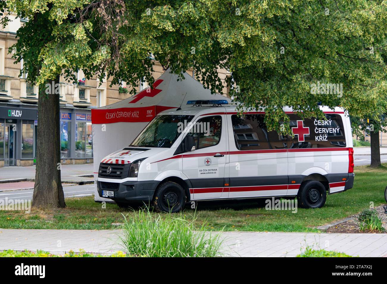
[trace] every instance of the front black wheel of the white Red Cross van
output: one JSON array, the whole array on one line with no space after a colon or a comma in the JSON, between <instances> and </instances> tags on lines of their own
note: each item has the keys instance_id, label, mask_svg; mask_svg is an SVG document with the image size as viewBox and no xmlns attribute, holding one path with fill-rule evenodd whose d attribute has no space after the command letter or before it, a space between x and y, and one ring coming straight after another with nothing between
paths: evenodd
<instances>
[{"instance_id":1,"label":"front black wheel of the white Red Cross van","mask_svg":"<svg viewBox=\"0 0 387 284\"><path fill-rule=\"evenodd\" d=\"M164 182L157 188L153 204L158 211L175 213L185 206L185 191L176 182Z\"/></svg>"}]
</instances>

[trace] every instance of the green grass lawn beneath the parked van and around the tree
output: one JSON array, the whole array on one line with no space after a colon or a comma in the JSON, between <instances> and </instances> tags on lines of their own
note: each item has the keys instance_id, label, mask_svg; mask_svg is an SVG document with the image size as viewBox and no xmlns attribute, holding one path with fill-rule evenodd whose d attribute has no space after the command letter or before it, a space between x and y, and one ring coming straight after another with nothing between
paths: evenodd
<instances>
[{"instance_id":1,"label":"green grass lawn beneath the parked van and around the tree","mask_svg":"<svg viewBox=\"0 0 387 284\"><path fill-rule=\"evenodd\" d=\"M320 209L291 211L268 211L258 208L252 201L199 202L195 210L186 209L186 218L196 218L198 228L203 224L208 230L226 231L285 231L319 232L315 227L337 219L359 213L384 204L384 189L387 186L387 167L355 167L354 187L346 192L327 196ZM115 204L94 202L94 197L68 198L67 207L56 210L33 210L30 214L21 211L0 211L0 228L23 229L113 229L112 223L123 223L122 214L128 219L134 216L131 210L120 209ZM172 214L173 215L173 214ZM176 216L180 217L180 213Z\"/></svg>"}]
</instances>

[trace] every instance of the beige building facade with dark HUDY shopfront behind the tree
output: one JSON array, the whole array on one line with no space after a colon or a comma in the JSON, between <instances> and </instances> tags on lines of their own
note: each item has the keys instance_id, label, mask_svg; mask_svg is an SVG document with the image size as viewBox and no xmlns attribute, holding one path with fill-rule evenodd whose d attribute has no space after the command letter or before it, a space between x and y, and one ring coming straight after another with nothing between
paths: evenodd
<instances>
[{"instance_id":1,"label":"beige building facade with dark HUDY shopfront behind the tree","mask_svg":"<svg viewBox=\"0 0 387 284\"><path fill-rule=\"evenodd\" d=\"M31 166L36 163L39 88L20 76L23 61L15 64L8 53L16 43L16 31L26 20L15 18L0 30L0 167ZM1 28L1 27L0 27ZM164 70L154 62L154 78ZM229 73L218 70L223 80ZM187 73L194 75L193 70ZM110 87L111 80L85 80L82 70L75 73L77 83L60 80L60 145L63 164L92 163L91 109L113 104L129 97L125 83ZM137 91L146 88L142 82ZM225 86L225 83L224 83ZM54 87L54 86L53 86ZM120 88L121 87L121 88ZM228 89L224 87L223 93Z\"/></svg>"}]
</instances>

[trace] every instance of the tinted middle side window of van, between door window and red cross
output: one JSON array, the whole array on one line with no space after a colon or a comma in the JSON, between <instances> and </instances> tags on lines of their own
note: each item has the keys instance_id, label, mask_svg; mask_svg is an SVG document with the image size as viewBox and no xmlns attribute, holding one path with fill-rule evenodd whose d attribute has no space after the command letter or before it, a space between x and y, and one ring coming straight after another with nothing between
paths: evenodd
<instances>
[{"instance_id":1,"label":"tinted middle side window of van, between door window and red cross","mask_svg":"<svg viewBox=\"0 0 387 284\"><path fill-rule=\"evenodd\" d=\"M231 122L235 146L238 150L286 149L286 137L267 131L264 114L233 114Z\"/></svg>"}]
</instances>

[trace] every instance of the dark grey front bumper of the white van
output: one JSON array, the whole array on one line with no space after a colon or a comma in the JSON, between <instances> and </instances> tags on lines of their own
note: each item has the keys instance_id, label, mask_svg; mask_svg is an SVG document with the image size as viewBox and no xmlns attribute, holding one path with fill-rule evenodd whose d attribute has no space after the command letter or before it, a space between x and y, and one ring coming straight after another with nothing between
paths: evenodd
<instances>
[{"instance_id":1,"label":"dark grey front bumper of the white van","mask_svg":"<svg viewBox=\"0 0 387 284\"><path fill-rule=\"evenodd\" d=\"M102 190L110 190L114 192L114 197L108 197L118 202L125 201L143 201L149 203L153 199L156 187L159 184L158 180L146 180L146 181L127 181L118 184L118 187L108 188L107 184L110 182L97 182L98 194L102 196ZM111 186L110 186L111 187ZM106 198L106 197L105 197Z\"/></svg>"}]
</instances>

